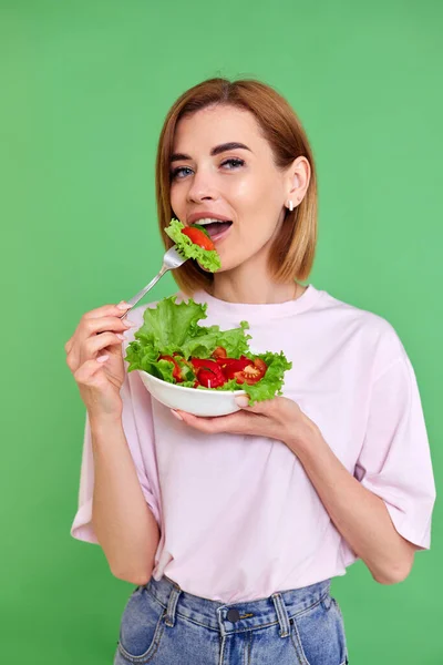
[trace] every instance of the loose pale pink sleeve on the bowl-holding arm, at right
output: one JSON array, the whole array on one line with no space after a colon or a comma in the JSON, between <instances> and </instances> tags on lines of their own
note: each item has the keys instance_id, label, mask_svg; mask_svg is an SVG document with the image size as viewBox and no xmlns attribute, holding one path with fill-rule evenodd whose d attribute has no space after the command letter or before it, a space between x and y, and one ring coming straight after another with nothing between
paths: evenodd
<instances>
[{"instance_id":1,"label":"loose pale pink sleeve on the bowl-holding arm, at right","mask_svg":"<svg viewBox=\"0 0 443 665\"><path fill-rule=\"evenodd\" d=\"M404 539L430 548L435 484L419 388L405 352L372 386L354 475L384 501Z\"/></svg>"}]
</instances>

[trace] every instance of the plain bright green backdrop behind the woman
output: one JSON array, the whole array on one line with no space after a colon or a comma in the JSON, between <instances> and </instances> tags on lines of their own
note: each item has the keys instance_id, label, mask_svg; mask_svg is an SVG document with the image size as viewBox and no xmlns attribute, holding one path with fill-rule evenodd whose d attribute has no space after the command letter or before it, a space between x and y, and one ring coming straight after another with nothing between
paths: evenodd
<instances>
[{"instance_id":1,"label":"plain bright green backdrop behind the woman","mask_svg":"<svg viewBox=\"0 0 443 665\"><path fill-rule=\"evenodd\" d=\"M261 79L300 115L320 182L309 282L395 327L439 484L442 18L430 0L0 2L2 663L112 663L133 587L69 533L84 409L63 346L158 270L157 136L203 79ZM333 583L352 664L443 663L442 540L437 503L404 583L360 562Z\"/></svg>"}]
</instances>

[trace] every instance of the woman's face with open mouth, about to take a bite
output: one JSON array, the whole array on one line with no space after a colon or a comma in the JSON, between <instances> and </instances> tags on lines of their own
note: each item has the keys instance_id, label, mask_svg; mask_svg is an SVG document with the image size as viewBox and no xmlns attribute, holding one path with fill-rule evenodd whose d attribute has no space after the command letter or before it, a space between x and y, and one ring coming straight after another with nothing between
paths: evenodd
<instances>
[{"instance_id":1,"label":"woman's face with open mouth, about to take a bite","mask_svg":"<svg viewBox=\"0 0 443 665\"><path fill-rule=\"evenodd\" d=\"M207 228L222 270L267 255L293 177L276 168L251 113L217 105L183 117L176 126L171 173L171 205L183 224L217 217L231 222Z\"/></svg>"}]
</instances>

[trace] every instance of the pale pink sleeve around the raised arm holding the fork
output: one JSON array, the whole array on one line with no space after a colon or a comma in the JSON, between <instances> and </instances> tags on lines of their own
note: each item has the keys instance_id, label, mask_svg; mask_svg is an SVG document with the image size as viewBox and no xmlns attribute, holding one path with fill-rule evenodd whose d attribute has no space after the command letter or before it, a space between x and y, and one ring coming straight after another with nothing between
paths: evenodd
<instances>
[{"instance_id":1,"label":"pale pink sleeve around the raised arm holding the fork","mask_svg":"<svg viewBox=\"0 0 443 665\"><path fill-rule=\"evenodd\" d=\"M146 503L159 524L159 492L154 449L151 396L137 377L137 372L126 374L121 396L123 400L123 429L134 461L140 485ZM93 490L94 458L92 452L91 428L86 415L78 511L71 526L71 535L78 540L99 544L91 522Z\"/></svg>"}]
</instances>

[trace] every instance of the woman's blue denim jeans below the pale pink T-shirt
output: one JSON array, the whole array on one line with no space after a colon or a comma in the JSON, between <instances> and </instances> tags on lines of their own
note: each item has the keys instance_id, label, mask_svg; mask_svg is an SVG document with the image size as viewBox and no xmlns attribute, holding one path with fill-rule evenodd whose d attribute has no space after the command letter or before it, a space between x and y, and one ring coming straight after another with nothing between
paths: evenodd
<instances>
[{"instance_id":1,"label":"woman's blue denim jeans below the pale pink T-shirt","mask_svg":"<svg viewBox=\"0 0 443 665\"><path fill-rule=\"evenodd\" d=\"M330 581L223 605L167 577L137 586L124 608L114 665L344 665Z\"/></svg>"}]
</instances>

